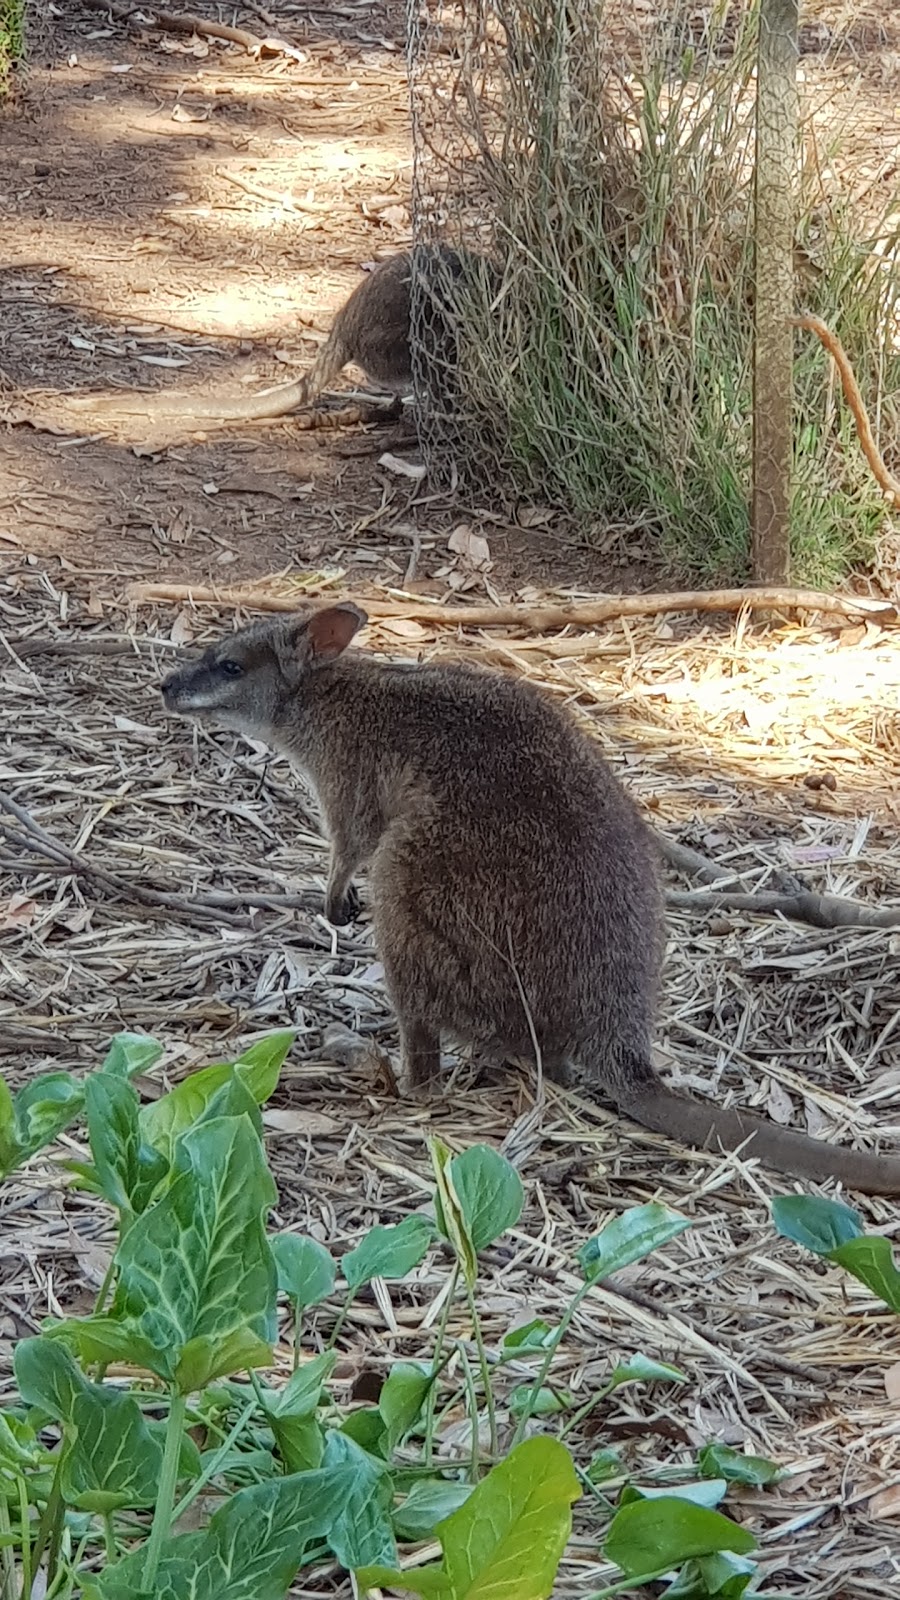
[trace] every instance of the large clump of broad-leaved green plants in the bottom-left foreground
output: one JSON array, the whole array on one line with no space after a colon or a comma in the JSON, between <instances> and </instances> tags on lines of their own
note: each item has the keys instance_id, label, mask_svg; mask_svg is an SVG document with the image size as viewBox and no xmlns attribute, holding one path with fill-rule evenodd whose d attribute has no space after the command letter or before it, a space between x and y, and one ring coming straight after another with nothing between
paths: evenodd
<instances>
[{"instance_id":1,"label":"large clump of broad-leaved green plants in the bottom-left foreground","mask_svg":"<svg viewBox=\"0 0 900 1600\"><path fill-rule=\"evenodd\" d=\"M131 1078L160 1048L136 1035L85 1078L6 1091L5 1170L82 1118L90 1158L64 1166L110 1206L117 1245L94 1310L50 1320L14 1352L18 1397L0 1411L3 1600L26 1600L38 1573L53 1600L282 1600L322 1560L352 1571L360 1594L546 1600L583 1490L621 1571L604 1594L639 1582L649 1560L653 1574L671 1568L673 1594L741 1594L751 1544L717 1507L729 1482L765 1482L754 1458L709 1456L700 1478L663 1493L597 1456L583 1470L564 1443L621 1384L685 1374L636 1354L586 1398L552 1381L585 1296L687 1219L657 1203L617 1216L580 1251L583 1282L559 1325L535 1318L488 1349L479 1256L524 1206L519 1174L488 1146L453 1154L434 1139L434 1218L378 1224L340 1261L317 1240L267 1232L259 1106L291 1042L267 1035L149 1104ZM354 1299L416 1272L436 1246L450 1282L431 1349L378 1373L373 1400L338 1403L335 1344ZM460 1293L471 1339L450 1334ZM267 1371L279 1294L293 1317L287 1381ZM307 1355L306 1320L325 1301L330 1344ZM444 1416L460 1406L469 1442L447 1450ZM613 1477L617 1507L604 1493ZM431 1539L440 1562L400 1565L399 1542Z\"/></svg>"}]
</instances>

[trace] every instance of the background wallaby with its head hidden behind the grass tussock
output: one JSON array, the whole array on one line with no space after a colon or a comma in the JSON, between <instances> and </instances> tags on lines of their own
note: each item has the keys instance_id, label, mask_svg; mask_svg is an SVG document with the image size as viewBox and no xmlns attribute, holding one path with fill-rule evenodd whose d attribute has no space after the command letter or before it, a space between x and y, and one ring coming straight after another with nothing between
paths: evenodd
<instances>
[{"instance_id":1,"label":"background wallaby with its head hidden behind the grass tussock","mask_svg":"<svg viewBox=\"0 0 900 1600\"><path fill-rule=\"evenodd\" d=\"M431 355L444 365L453 358L453 310L447 304L447 285L461 274L461 258L448 246L418 246L423 270L423 334ZM472 261L484 258L472 256ZM407 394L413 386L410 347L413 253L381 261L344 301L331 323L331 331L312 366L290 384L255 395L199 400L192 395L163 397L163 410L189 414L192 421L216 418L221 422L261 421L285 416L309 405L338 378L348 362L362 366L372 382L391 394ZM431 288L431 296L426 301ZM429 315L431 310L431 315Z\"/></svg>"}]
</instances>

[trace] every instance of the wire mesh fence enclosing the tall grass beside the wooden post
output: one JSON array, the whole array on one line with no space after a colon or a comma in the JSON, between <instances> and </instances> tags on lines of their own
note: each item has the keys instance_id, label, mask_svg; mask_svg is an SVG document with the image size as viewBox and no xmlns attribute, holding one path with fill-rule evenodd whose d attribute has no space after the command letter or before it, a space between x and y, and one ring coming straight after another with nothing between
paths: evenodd
<instances>
[{"instance_id":1,"label":"wire mesh fence enclosing the tall grass beside the wooden post","mask_svg":"<svg viewBox=\"0 0 900 1600\"><path fill-rule=\"evenodd\" d=\"M685 570L740 576L756 3L408 0L407 19L432 480L564 507L588 536L642 528ZM838 326L890 430L900 210L890 184L865 214L852 203L836 150L855 106L833 35L820 43L804 64L798 309ZM796 568L830 581L882 507L809 339L796 389Z\"/></svg>"}]
</instances>

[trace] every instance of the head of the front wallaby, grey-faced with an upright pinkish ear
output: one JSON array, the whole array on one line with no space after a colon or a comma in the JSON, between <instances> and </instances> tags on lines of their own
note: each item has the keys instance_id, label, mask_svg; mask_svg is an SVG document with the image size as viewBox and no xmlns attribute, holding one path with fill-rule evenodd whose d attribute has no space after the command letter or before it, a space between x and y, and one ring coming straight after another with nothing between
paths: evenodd
<instances>
[{"instance_id":1,"label":"head of the front wallaby, grey-faced with an upright pinkish ear","mask_svg":"<svg viewBox=\"0 0 900 1600\"><path fill-rule=\"evenodd\" d=\"M367 621L365 611L348 602L253 622L171 672L162 685L165 707L251 739L271 739L285 702L296 704L304 680L333 662Z\"/></svg>"}]
</instances>

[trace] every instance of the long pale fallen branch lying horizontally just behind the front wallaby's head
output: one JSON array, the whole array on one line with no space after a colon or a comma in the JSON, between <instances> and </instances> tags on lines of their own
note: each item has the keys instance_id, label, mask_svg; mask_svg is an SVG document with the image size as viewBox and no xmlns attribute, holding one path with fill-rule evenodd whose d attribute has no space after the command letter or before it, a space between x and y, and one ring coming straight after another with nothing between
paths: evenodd
<instances>
[{"instance_id":1,"label":"long pale fallen branch lying horizontally just behind the front wallaby's head","mask_svg":"<svg viewBox=\"0 0 900 1600\"><path fill-rule=\"evenodd\" d=\"M131 605L211 605L221 610L296 611L311 590L279 595L266 589L208 589L203 584L128 584L125 597ZM328 598L338 600L338 595ZM349 597L343 597L349 598ZM559 605L431 605L426 600L362 600L373 622L402 616L436 627L525 627L535 634L554 627L589 627L612 622L620 616L658 616L663 611L823 611L838 616L866 616L882 627L898 621L897 606L889 600L862 595L826 595L817 589L689 589L673 594L604 595L596 600L573 600Z\"/></svg>"}]
</instances>

